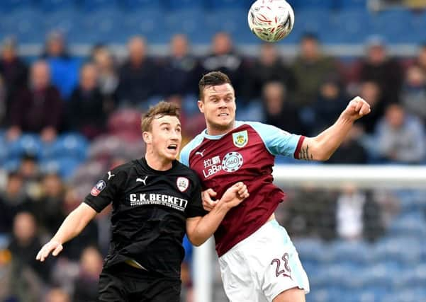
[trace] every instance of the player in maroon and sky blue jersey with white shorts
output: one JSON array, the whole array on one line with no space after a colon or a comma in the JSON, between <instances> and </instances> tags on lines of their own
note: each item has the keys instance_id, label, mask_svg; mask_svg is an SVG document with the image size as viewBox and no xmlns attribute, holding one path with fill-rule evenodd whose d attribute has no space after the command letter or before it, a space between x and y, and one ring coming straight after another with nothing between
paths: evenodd
<instances>
[{"instance_id":1,"label":"player in maroon and sky blue jersey with white shorts","mask_svg":"<svg viewBox=\"0 0 426 302\"><path fill-rule=\"evenodd\" d=\"M326 161L370 106L354 98L330 128L304 137L259 122L236 121L235 91L220 71L204 75L199 91L198 108L207 127L182 149L180 161L210 188L203 192L204 209L214 209L214 198L232 183L243 181L250 190L250 197L228 211L215 231L225 293L231 302L303 302L308 277L285 228L274 217L284 198L273 184L274 158Z\"/></svg>"}]
</instances>

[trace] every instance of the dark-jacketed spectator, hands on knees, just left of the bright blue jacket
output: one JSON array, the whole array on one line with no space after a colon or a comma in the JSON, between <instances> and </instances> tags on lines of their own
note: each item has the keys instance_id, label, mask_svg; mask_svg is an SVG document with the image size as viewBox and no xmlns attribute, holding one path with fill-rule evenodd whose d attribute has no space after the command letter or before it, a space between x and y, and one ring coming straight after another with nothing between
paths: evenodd
<instances>
[{"instance_id":1,"label":"dark-jacketed spectator, hands on knees, just left of the bright blue jacket","mask_svg":"<svg viewBox=\"0 0 426 302\"><path fill-rule=\"evenodd\" d=\"M62 117L62 100L57 88L50 84L46 62L31 66L30 86L16 95L11 110L9 139L21 132L40 133L44 141L55 139Z\"/></svg>"}]
</instances>

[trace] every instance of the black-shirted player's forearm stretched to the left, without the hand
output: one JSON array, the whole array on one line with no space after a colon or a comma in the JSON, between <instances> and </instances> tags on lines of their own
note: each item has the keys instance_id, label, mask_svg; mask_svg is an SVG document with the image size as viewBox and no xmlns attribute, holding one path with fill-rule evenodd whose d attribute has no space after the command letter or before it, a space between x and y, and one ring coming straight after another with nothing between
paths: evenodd
<instances>
[{"instance_id":1,"label":"black-shirted player's forearm stretched to the left, without the hand","mask_svg":"<svg viewBox=\"0 0 426 302\"><path fill-rule=\"evenodd\" d=\"M82 207L84 207L83 204L69 213L51 241L63 244L79 235L79 233L82 233L87 223L93 218L90 217L90 215L84 215L84 209L82 209Z\"/></svg>"}]
</instances>

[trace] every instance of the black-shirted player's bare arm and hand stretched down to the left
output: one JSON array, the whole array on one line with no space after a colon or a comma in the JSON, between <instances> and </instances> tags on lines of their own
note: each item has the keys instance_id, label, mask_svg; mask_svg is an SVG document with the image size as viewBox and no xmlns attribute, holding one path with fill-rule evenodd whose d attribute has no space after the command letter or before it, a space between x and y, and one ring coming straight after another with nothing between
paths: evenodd
<instances>
[{"instance_id":1,"label":"black-shirted player's bare arm and hand stretched down to the left","mask_svg":"<svg viewBox=\"0 0 426 302\"><path fill-rule=\"evenodd\" d=\"M57 230L55 236L53 236L48 243L43 245L43 248L38 252L35 259L43 262L51 252L54 256L58 255L62 251L62 244L79 235L79 233L82 233L87 223L89 223L94 216L96 216L96 211L94 209L84 202L80 204L77 209L69 213Z\"/></svg>"}]
</instances>

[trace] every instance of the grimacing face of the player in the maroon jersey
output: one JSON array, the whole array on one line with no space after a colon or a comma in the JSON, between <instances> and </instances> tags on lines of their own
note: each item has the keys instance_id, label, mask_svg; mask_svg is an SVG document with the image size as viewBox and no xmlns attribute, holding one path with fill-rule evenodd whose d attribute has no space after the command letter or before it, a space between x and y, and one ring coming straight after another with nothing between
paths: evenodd
<instances>
[{"instance_id":1,"label":"grimacing face of the player in the maroon jersey","mask_svg":"<svg viewBox=\"0 0 426 302\"><path fill-rule=\"evenodd\" d=\"M198 101L198 108L204 113L212 135L228 132L234 127L236 107L235 91L229 83L205 88L203 100Z\"/></svg>"}]
</instances>

